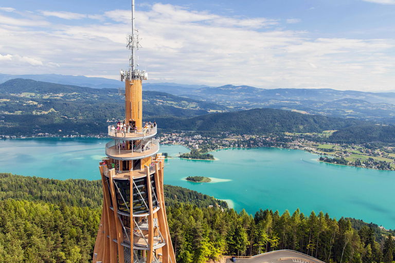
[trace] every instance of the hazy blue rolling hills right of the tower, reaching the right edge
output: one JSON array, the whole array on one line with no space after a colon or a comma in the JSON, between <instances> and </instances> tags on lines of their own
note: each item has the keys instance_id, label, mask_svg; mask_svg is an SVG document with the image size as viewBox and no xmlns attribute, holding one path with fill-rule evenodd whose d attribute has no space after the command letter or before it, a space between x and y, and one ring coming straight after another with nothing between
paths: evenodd
<instances>
[{"instance_id":1,"label":"hazy blue rolling hills right of the tower, reaching the right edge","mask_svg":"<svg viewBox=\"0 0 395 263\"><path fill-rule=\"evenodd\" d=\"M160 90L158 86L156 90ZM172 90L173 94L210 101L234 109L276 108L328 117L358 118L395 123L394 92L362 92L335 89L261 89L225 85L192 90Z\"/></svg>"}]
</instances>

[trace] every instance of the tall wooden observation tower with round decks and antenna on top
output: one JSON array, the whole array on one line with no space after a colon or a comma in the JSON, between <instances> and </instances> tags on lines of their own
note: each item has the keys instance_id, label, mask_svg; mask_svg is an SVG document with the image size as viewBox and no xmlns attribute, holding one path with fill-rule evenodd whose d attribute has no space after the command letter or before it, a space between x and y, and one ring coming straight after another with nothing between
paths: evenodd
<instances>
[{"instance_id":1,"label":"tall wooden observation tower with round decks and antenna on top","mask_svg":"<svg viewBox=\"0 0 395 263\"><path fill-rule=\"evenodd\" d=\"M147 72L135 63L139 38L134 27L127 38L129 69L125 82L124 120L108 127L111 142L99 165L103 210L93 254L94 263L176 263L167 224L163 192L164 156L159 153L156 123L142 122L142 80Z\"/></svg>"}]
</instances>

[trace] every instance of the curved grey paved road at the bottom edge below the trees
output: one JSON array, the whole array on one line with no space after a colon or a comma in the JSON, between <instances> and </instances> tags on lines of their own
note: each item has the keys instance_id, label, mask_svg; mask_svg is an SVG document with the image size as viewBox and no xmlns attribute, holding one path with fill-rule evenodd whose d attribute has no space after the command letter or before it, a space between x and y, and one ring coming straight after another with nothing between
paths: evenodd
<instances>
[{"instance_id":1,"label":"curved grey paved road at the bottom edge below the trees","mask_svg":"<svg viewBox=\"0 0 395 263\"><path fill-rule=\"evenodd\" d=\"M226 263L230 259L226 259ZM253 258L237 258L238 263L322 263L313 257L305 256L293 251L277 251L266 253Z\"/></svg>"}]
</instances>

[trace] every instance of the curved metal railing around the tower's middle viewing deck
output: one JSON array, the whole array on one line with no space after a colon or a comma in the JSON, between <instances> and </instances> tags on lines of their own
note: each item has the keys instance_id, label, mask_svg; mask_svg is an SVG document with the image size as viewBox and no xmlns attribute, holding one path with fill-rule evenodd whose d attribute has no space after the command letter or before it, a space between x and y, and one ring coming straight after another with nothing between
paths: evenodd
<instances>
[{"instance_id":1,"label":"curved metal railing around the tower's middle viewing deck","mask_svg":"<svg viewBox=\"0 0 395 263\"><path fill-rule=\"evenodd\" d=\"M150 153L155 153L159 151L159 140L153 139L145 143L146 144L141 143L140 147L137 148L132 147L131 149L123 149L123 144L117 141L111 141L105 144L105 154L113 157L118 155L124 155L122 156L123 158L133 158L139 157L141 156L141 154L146 153L147 155L149 155Z\"/></svg>"}]
</instances>

